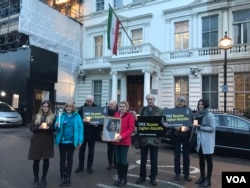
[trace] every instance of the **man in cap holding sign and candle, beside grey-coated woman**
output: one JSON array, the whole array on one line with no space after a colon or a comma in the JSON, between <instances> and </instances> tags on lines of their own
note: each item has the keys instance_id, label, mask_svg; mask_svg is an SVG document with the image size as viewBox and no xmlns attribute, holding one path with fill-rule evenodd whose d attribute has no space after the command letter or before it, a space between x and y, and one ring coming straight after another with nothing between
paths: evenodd
<instances>
[{"instance_id":1,"label":"man in cap holding sign and candle, beside grey-coated woman","mask_svg":"<svg viewBox=\"0 0 250 188\"><path fill-rule=\"evenodd\" d=\"M193 113L190 108L186 106L186 99L184 96L179 96L177 98L176 108L187 108L190 118L193 119ZM191 119L191 122L192 122ZM190 167L190 146L189 138L191 133L191 124L182 125L174 128L173 143L174 143L174 172L175 180L180 180L181 174L181 150L183 155L183 174L186 181L192 181L192 178L189 176L189 167Z\"/></svg>"}]
</instances>

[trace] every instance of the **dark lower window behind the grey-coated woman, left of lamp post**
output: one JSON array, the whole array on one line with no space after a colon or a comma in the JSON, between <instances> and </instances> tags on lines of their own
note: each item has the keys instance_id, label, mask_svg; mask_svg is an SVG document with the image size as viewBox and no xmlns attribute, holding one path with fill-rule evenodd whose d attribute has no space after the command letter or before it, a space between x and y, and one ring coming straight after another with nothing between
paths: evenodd
<instances>
[{"instance_id":1,"label":"dark lower window behind the grey-coated woman, left of lamp post","mask_svg":"<svg viewBox=\"0 0 250 188\"><path fill-rule=\"evenodd\" d=\"M202 98L207 99L211 109L218 109L218 75L202 76Z\"/></svg>"}]
</instances>

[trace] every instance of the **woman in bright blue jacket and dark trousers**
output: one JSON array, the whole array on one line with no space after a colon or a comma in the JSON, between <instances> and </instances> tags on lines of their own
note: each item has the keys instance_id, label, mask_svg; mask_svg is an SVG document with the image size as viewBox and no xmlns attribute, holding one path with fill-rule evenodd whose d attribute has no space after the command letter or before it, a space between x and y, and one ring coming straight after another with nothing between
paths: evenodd
<instances>
[{"instance_id":1,"label":"woman in bright blue jacket and dark trousers","mask_svg":"<svg viewBox=\"0 0 250 188\"><path fill-rule=\"evenodd\" d=\"M83 143L84 125L74 103L68 102L55 122L55 144L59 145L61 186L71 185L73 154Z\"/></svg>"}]
</instances>

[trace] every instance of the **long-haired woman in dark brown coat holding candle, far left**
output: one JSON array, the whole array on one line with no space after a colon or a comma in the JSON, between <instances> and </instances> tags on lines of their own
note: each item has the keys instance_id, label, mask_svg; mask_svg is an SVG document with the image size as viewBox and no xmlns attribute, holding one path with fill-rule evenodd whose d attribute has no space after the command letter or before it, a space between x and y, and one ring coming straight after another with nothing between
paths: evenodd
<instances>
[{"instance_id":1,"label":"long-haired woman in dark brown coat holding candle, far left","mask_svg":"<svg viewBox=\"0 0 250 188\"><path fill-rule=\"evenodd\" d=\"M30 141L28 159L33 160L34 188L45 188L49 159L54 157L54 120L50 101L43 101L39 112L32 119L30 130L33 133ZM39 163L43 160L41 182L39 182Z\"/></svg>"}]
</instances>

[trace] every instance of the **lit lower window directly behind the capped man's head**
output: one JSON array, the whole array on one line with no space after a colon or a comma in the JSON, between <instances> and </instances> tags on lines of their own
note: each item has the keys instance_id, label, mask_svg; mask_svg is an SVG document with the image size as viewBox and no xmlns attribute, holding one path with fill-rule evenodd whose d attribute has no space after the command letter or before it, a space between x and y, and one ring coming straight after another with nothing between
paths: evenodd
<instances>
[{"instance_id":1,"label":"lit lower window directly behind the capped man's head","mask_svg":"<svg viewBox=\"0 0 250 188\"><path fill-rule=\"evenodd\" d=\"M175 77L175 101L179 96L184 96L186 98L186 106L188 106L189 99L189 79L188 76L176 76ZM177 104L175 104L177 105Z\"/></svg>"}]
</instances>

